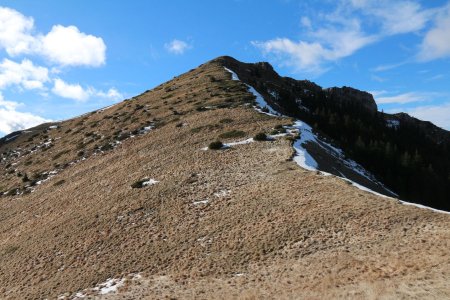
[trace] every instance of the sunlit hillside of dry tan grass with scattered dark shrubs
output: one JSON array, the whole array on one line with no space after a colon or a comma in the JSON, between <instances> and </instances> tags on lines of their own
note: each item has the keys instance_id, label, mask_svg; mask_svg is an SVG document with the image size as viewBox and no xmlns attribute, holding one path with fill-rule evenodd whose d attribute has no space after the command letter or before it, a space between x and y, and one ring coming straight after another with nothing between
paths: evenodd
<instances>
[{"instance_id":1,"label":"sunlit hillside of dry tan grass with scattered dark shrubs","mask_svg":"<svg viewBox=\"0 0 450 300\"><path fill-rule=\"evenodd\" d=\"M301 168L230 61L1 140L0 298L450 297L450 215Z\"/></svg>"}]
</instances>

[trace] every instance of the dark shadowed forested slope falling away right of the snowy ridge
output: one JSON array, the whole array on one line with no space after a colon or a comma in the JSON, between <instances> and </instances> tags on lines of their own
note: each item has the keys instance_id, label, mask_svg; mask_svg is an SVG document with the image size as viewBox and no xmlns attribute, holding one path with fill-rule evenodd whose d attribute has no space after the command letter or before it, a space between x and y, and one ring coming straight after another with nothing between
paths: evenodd
<instances>
[{"instance_id":1,"label":"dark shadowed forested slope falling away right of the snowy ridge","mask_svg":"<svg viewBox=\"0 0 450 300\"><path fill-rule=\"evenodd\" d=\"M401 199L450 211L450 132L405 113L379 112L371 94L354 88L324 89L281 77L268 63L217 61L274 109L309 123ZM326 164L319 167L341 176Z\"/></svg>"}]
</instances>

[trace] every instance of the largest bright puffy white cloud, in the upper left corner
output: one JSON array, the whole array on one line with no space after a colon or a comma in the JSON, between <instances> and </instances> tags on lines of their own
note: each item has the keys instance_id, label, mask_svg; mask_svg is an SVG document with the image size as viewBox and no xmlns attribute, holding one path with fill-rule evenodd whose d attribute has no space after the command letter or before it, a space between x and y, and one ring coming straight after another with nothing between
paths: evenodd
<instances>
[{"instance_id":1,"label":"largest bright puffy white cloud, in the upper left corner","mask_svg":"<svg viewBox=\"0 0 450 300\"><path fill-rule=\"evenodd\" d=\"M33 31L33 18L0 7L0 48L8 55L39 55L60 66L98 67L105 63L106 45L100 37L75 26L55 25L46 35Z\"/></svg>"}]
</instances>

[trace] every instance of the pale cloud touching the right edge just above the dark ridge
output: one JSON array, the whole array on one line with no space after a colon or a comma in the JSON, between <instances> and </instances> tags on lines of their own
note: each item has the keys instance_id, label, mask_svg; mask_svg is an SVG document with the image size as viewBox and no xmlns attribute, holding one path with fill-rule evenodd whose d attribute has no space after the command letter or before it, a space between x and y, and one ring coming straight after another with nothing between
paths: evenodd
<instances>
[{"instance_id":1,"label":"pale cloud touching the right edge just above the dark ridge","mask_svg":"<svg viewBox=\"0 0 450 300\"><path fill-rule=\"evenodd\" d=\"M450 130L450 103L418 106L406 109L406 112L418 119L430 121L439 127Z\"/></svg>"}]
</instances>

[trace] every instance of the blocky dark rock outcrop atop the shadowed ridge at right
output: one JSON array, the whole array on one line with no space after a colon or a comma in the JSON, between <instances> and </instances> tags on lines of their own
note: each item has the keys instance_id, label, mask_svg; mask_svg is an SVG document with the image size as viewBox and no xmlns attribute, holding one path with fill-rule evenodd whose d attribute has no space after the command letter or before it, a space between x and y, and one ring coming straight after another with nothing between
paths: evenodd
<instances>
[{"instance_id":1,"label":"blocky dark rock outcrop atop the shadowed ridge at right","mask_svg":"<svg viewBox=\"0 0 450 300\"><path fill-rule=\"evenodd\" d=\"M332 87L325 90L334 101L348 101L354 102L367 108L372 112L378 110L377 104L373 99L372 94L364 91L360 91L351 87Z\"/></svg>"}]
</instances>

